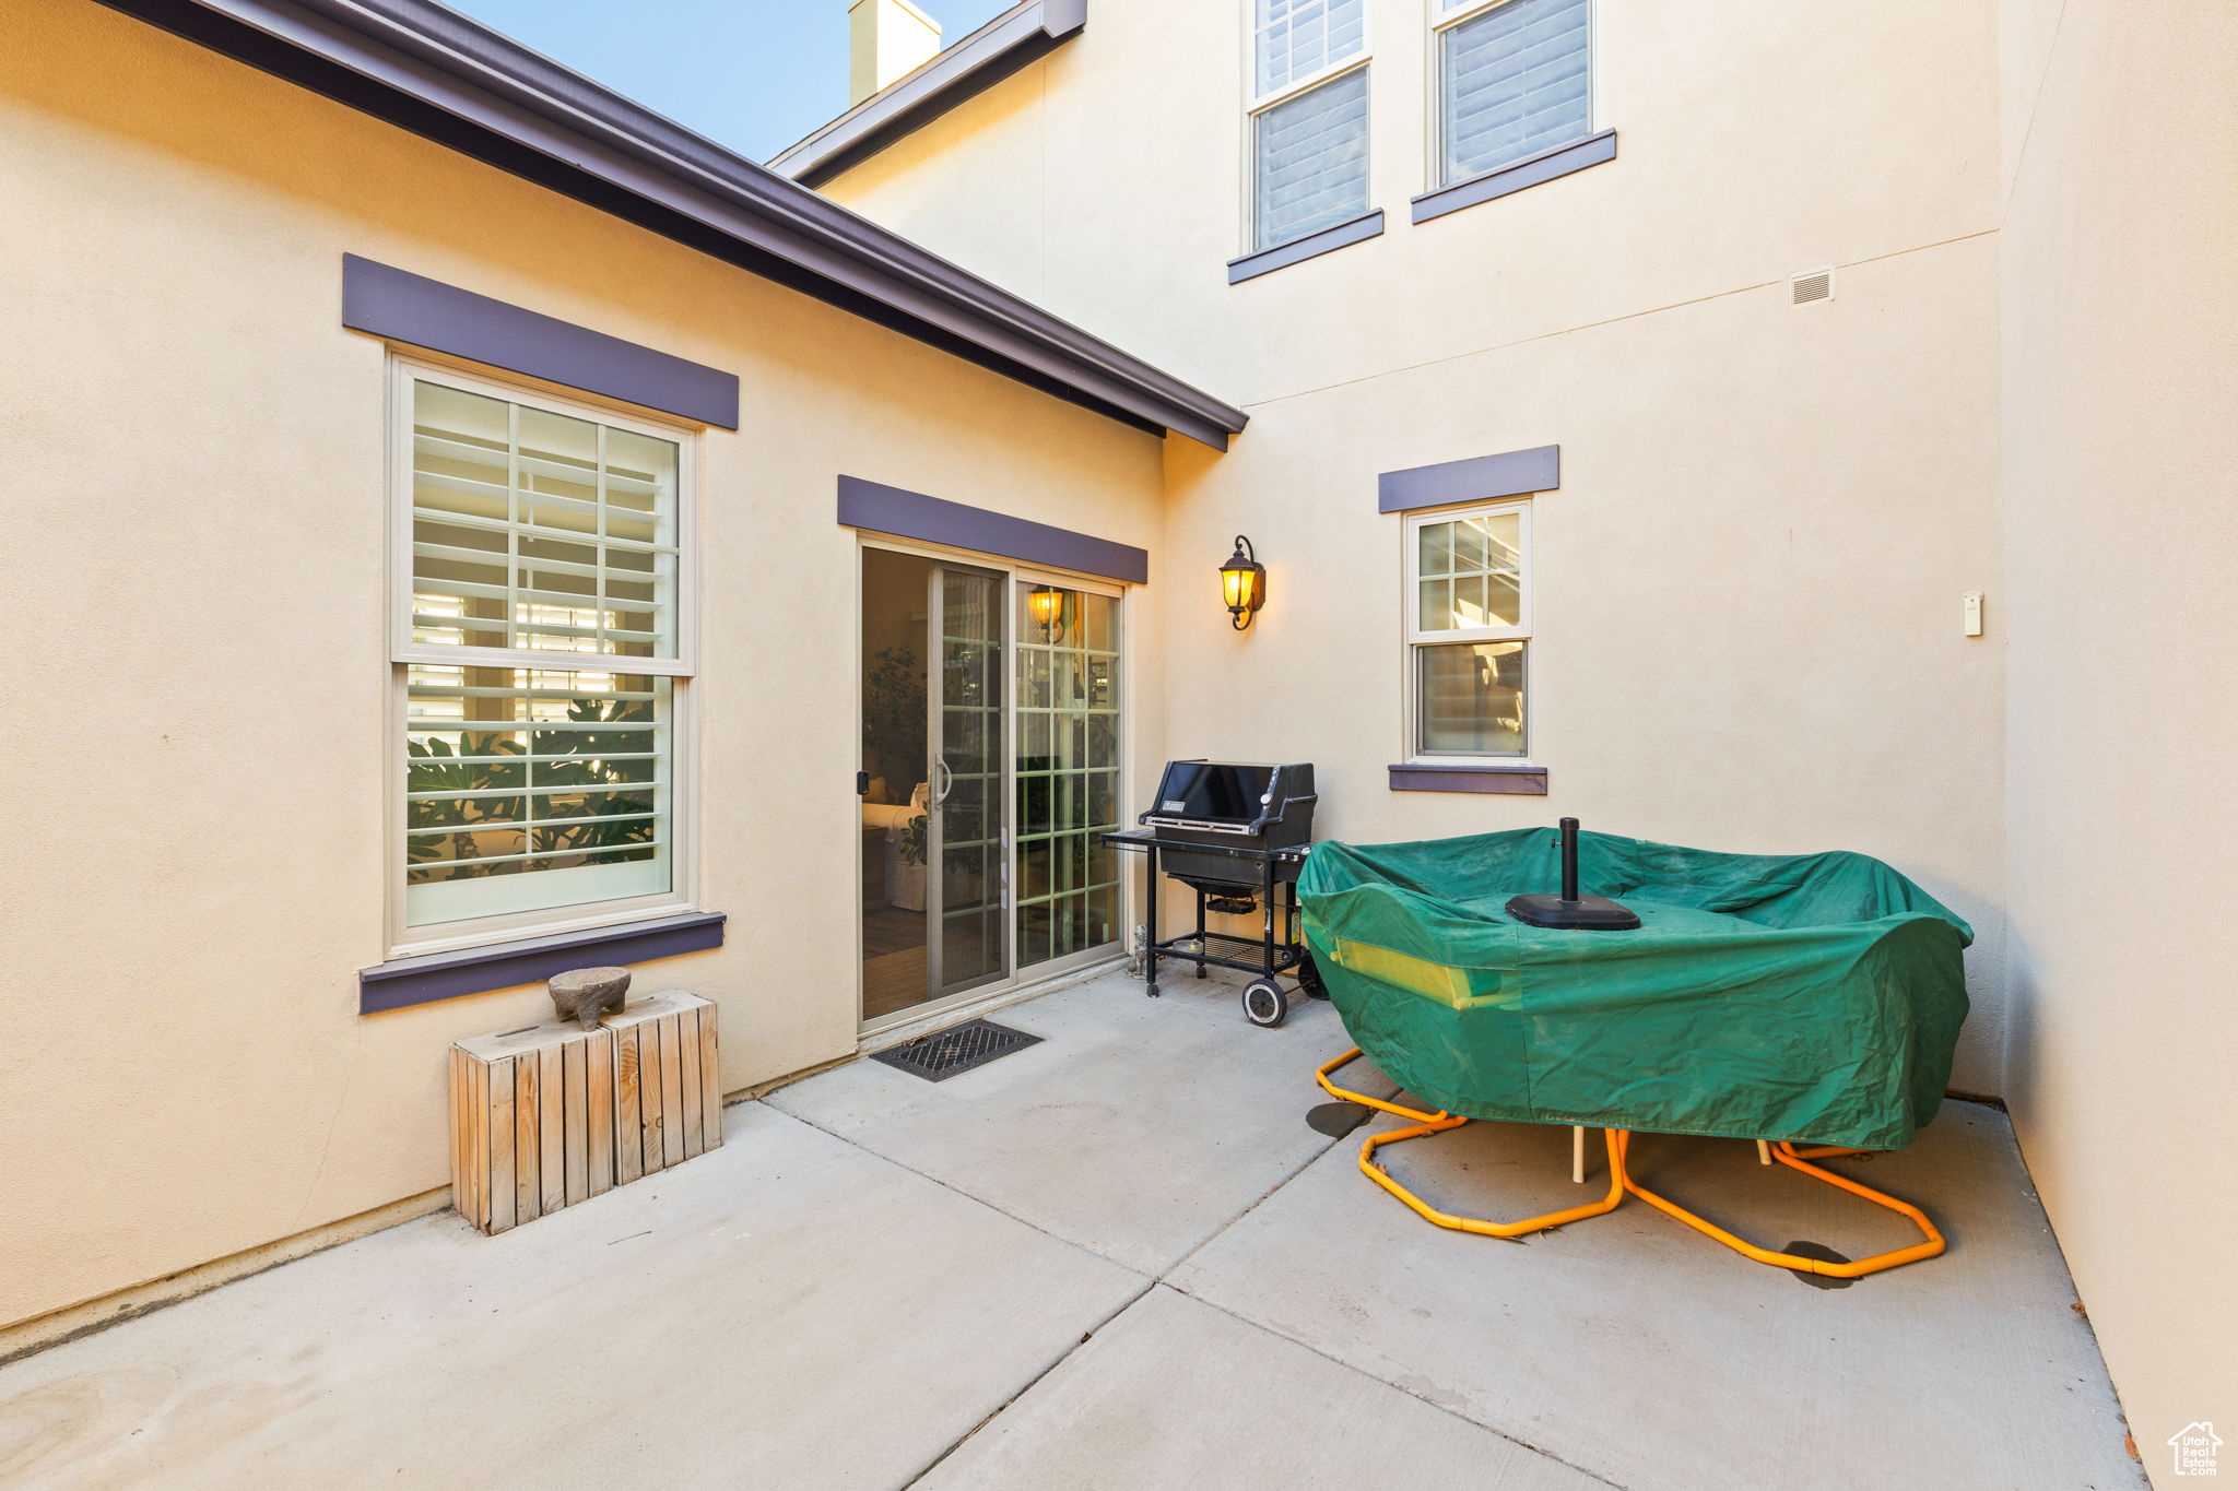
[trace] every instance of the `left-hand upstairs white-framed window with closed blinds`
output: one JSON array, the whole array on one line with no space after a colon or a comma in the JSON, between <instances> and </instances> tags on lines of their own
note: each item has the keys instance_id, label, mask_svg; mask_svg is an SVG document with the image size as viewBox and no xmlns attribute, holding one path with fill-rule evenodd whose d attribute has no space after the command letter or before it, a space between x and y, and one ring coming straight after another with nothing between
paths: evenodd
<instances>
[{"instance_id":1,"label":"left-hand upstairs white-framed window with closed blinds","mask_svg":"<svg viewBox=\"0 0 2238 1491\"><path fill-rule=\"evenodd\" d=\"M1367 210L1365 0L1247 0L1253 250Z\"/></svg>"}]
</instances>

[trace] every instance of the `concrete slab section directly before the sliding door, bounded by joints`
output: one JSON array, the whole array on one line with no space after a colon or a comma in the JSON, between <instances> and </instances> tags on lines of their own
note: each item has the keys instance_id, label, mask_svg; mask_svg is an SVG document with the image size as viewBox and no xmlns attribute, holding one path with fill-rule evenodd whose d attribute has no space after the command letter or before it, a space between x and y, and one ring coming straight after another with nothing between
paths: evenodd
<instances>
[{"instance_id":1,"label":"concrete slab section directly before the sliding door, bounded by joints","mask_svg":"<svg viewBox=\"0 0 2238 1491\"><path fill-rule=\"evenodd\" d=\"M1112 972L1000 1010L1041 1044L947 1082L855 1062L768 1102L1159 1274L1332 1142L1303 1113L1320 1100L1314 1066L1352 1044L1336 1010L1298 999L1264 1031L1238 988L1173 970L1146 999ZM1345 1075L1392 1091L1365 1062Z\"/></svg>"}]
</instances>

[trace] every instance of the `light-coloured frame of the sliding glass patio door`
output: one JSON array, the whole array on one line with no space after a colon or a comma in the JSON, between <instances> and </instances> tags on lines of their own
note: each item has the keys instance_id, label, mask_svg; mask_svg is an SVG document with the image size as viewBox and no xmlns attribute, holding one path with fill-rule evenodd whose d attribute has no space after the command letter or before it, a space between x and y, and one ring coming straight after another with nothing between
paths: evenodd
<instances>
[{"instance_id":1,"label":"light-coloured frame of the sliding glass patio door","mask_svg":"<svg viewBox=\"0 0 2238 1491\"><path fill-rule=\"evenodd\" d=\"M974 984L971 988L944 995L940 999L927 999L922 1004L911 1004L880 1019L862 1017L862 961L864 961L864 939L862 939L862 908L855 910L855 1028L862 1037L875 1037L882 1031L893 1031L897 1026L909 1026L924 1022L933 1015L944 1015L949 1010L978 1004L982 999L1003 997L1016 988L1029 984L1041 984L1092 963L1110 961L1119 948L1126 948L1126 919L1128 919L1128 887L1126 876L1119 876L1119 939L1112 943L1101 943L1097 948L1083 948L1079 952L1068 952L1063 957L1052 957L1045 963L1034 963L1018 972L1018 899L1016 899L1016 870L1018 870L1018 700L1016 700L1016 664L1018 664L1018 583L1052 583L1065 590L1083 590L1090 595L1106 595L1119 601L1119 823L1128 823L1135 809L1132 787L1130 787L1130 758L1132 758L1132 726L1135 726L1135 653L1132 653L1132 630L1128 621L1128 597L1139 586L1126 586L1115 579L1103 579L1101 574L1081 574L1079 570L1059 570L1043 563L1027 563L1023 559L1007 559L1003 554L982 554L978 550L960 550L942 543L922 543L918 539L893 539L886 534L875 534L868 530L857 530L855 534L855 688L853 688L853 720L855 720L855 742L862 742L862 550L886 550L893 554L913 554L918 559L931 559L933 563L958 563L974 570L987 570L1003 577L1003 970L1000 977ZM927 650L938 646L938 637L931 635L931 615L927 615ZM935 657L927 657L927 668L935 666ZM927 688L927 700L931 702L931 686ZM931 742L927 742L931 744ZM853 778L853 771L848 773ZM850 803L859 805L859 796L850 796ZM862 814L855 814L855 879L850 885L862 885L864 876L864 847L862 847ZM931 856L927 856L931 858ZM931 890L931 876L927 876L927 887ZM859 890L857 890L859 896ZM931 901L927 901L931 908ZM927 948L927 968L931 966L931 948Z\"/></svg>"}]
</instances>

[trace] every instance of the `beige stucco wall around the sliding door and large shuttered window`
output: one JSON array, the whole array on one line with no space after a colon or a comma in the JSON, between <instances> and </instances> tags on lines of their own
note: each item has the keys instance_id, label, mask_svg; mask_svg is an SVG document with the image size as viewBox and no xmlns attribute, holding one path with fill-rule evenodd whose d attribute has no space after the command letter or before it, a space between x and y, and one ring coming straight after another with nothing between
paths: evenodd
<instances>
[{"instance_id":1,"label":"beige stucco wall around the sliding door and large shuttered window","mask_svg":"<svg viewBox=\"0 0 2238 1491\"><path fill-rule=\"evenodd\" d=\"M855 1048L855 536L839 472L1126 543L1159 440L517 183L90 0L0 47L0 1323L448 1183L383 946L385 349L360 253L732 369L703 487L700 905L640 970L725 1084ZM1155 671L1159 617L1130 617ZM1155 697L1130 749L1157 758Z\"/></svg>"}]
</instances>

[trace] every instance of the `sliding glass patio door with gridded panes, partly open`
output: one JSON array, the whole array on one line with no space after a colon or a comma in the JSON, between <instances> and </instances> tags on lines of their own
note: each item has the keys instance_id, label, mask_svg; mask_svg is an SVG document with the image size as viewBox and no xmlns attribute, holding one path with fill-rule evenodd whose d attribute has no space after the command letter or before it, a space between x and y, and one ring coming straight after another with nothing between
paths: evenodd
<instances>
[{"instance_id":1,"label":"sliding glass patio door with gridded panes, partly open","mask_svg":"<svg viewBox=\"0 0 2238 1491\"><path fill-rule=\"evenodd\" d=\"M862 1017L893 1024L1119 941L1119 599L862 559Z\"/></svg>"}]
</instances>

